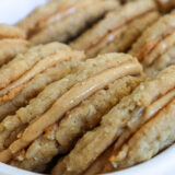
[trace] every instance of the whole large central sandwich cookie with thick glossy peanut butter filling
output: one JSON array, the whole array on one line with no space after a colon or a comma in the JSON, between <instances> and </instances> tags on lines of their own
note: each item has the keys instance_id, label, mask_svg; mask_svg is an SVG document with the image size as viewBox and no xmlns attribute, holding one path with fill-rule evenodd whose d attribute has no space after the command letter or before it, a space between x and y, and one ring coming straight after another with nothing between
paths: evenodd
<instances>
[{"instance_id":1,"label":"whole large central sandwich cookie with thick glossy peanut butter filling","mask_svg":"<svg viewBox=\"0 0 175 175\"><path fill-rule=\"evenodd\" d=\"M43 171L143 80L142 67L129 55L108 54L79 62L74 71L1 121L0 160Z\"/></svg>"}]
</instances>

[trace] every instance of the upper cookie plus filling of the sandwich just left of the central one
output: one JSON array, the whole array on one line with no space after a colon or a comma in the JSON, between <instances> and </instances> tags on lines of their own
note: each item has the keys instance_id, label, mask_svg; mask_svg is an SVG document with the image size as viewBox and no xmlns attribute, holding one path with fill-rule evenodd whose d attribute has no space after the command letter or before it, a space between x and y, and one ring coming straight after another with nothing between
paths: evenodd
<instances>
[{"instance_id":1,"label":"upper cookie plus filling of the sandwich just left of the central one","mask_svg":"<svg viewBox=\"0 0 175 175\"><path fill-rule=\"evenodd\" d=\"M81 55L84 57L83 54ZM30 48L0 69L0 102L15 97L24 84L38 73L79 56L80 51L72 51L68 46L59 43Z\"/></svg>"}]
</instances>

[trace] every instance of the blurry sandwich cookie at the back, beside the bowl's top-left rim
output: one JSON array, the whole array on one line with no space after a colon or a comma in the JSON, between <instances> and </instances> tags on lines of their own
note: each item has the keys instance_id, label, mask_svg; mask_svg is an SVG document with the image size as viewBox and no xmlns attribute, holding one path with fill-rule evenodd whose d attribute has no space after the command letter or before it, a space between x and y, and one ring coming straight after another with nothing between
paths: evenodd
<instances>
[{"instance_id":1,"label":"blurry sandwich cookie at the back, beside the bowl's top-left rim","mask_svg":"<svg viewBox=\"0 0 175 175\"><path fill-rule=\"evenodd\" d=\"M116 0L51 1L36 9L18 26L25 31L33 45L67 42L117 7Z\"/></svg>"}]
</instances>

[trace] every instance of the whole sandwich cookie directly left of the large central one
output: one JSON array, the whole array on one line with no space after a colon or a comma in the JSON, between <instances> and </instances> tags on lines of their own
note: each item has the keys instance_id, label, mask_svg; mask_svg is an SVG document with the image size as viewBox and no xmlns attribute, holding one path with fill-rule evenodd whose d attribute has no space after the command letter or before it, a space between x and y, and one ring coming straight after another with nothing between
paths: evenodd
<instances>
[{"instance_id":1,"label":"whole sandwich cookie directly left of the large central one","mask_svg":"<svg viewBox=\"0 0 175 175\"><path fill-rule=\"evenodd\" d=\"M49 51L47 52L47 50ZM42 57L43 54L44 57ZM32 65L33 59L39 59L39 57L40 62L37 61ZM5 69L0 70L2 72L7 71L9 74L5 75L9 78L14 77L15 68L16 74L19 73L19 77L12 80L12 83L0 90L0 119L2 120L7 115L14 114L16 109L26 105L45 86L69 74L84 59L83 52L71 50L68 46L59 43L40 45L16 56L13 61L5 66ZM25 72L20 72L18 69L20 63L23 68L26 68L24 67L25 63L30 68Z\"/></svg>"}]
</instances>

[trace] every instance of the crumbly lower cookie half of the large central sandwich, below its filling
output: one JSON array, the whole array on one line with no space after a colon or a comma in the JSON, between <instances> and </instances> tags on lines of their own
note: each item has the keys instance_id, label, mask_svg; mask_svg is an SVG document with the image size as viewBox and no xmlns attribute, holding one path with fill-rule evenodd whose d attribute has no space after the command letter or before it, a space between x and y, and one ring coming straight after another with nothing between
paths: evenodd
<instances>
[{"instance_id":1,"label":"crumbly lower cookie half of the large central sandwich, below its filling","mask_svg":"<svg viewBox=\"0 0 175 175\"><path fill-rule=\"evenodd\" d=\"M70 151L84 132L97 126L102 116L122 96L128 95L142 80L143 78L139 78L139 75L127 75L97 91L75 108L67 112L60 124L48 127L42 137L36 139L26 150L22 150L10 164L30 171L43 172L54 156Z\"/></svg>"}]
</instances>

